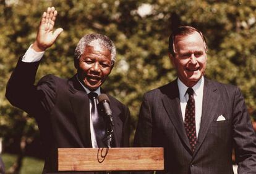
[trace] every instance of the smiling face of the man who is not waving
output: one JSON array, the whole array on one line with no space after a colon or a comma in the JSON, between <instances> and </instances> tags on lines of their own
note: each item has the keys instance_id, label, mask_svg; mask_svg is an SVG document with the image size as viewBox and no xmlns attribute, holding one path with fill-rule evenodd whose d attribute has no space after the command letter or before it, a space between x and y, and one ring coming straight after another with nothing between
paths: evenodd
<instances>
[{"instance_id":1,"label":"smiling face of the man who is not waving","mask_svg":"<svg viewBox=\"0 0 256 174\"><path fill-rule=\"evenodd\" d=\"M193 87L205 73L207 65L206 45L196 31L188 35L178 35L174 42L175 56L169 53L171 62L177 71L179 79Z\"/></svg>"}]
</instances>

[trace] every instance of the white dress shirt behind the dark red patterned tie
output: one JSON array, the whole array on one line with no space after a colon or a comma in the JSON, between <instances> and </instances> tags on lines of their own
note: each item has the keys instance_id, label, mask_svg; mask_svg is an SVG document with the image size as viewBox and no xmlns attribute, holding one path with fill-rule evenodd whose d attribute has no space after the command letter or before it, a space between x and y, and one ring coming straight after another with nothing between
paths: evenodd
<instances>
[{"instance_id":1,"label":"white dress shirt behind the dark red patterned tie","mask_svg":"<svg viewBox=\"0 0 256 174\"><path fill-rule=\"evenodd\" d=\"M201 123L201 117L202 117L202 105L203 105L203 84L205 82L205 79L202 77L197 84L192 87L194 90L194 98L195 98L195 130L197 132L197 137L198 137L198 132L200 129L200 123ZM187 87L185 84L181 82L181 80L178 78L177 79L177 85L179 88L179 98L181 100L181 113L182 113L182 118L183 122L185 121L185 111L186 111L186 106L187 106L187 100L189 100L189 95L186 93Z\"/></svg>"}]
</instances>

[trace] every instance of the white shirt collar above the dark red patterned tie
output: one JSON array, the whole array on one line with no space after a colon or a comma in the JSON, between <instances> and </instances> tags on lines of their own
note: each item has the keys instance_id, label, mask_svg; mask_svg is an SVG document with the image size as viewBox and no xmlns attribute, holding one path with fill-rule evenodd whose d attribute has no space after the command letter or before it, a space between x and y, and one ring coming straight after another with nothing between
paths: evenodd
<instances>
[{"instance_id":1,"label":"white shirt collar above the dark red patterned tie","mask_svg":"<svg viewBox=\"0 0 256 174\"><path fill-rule=\"evenodd\" d=\"M204 77L202 77L197 84L195 84L192 89L195 92L195 95L202 95L203 94L203 84L205 83L205 79ZM177 79L177 85L179 88L179 97L185 97L187 89L189 87L187 87L179 78Z\"/></svg>"}]
</instances>

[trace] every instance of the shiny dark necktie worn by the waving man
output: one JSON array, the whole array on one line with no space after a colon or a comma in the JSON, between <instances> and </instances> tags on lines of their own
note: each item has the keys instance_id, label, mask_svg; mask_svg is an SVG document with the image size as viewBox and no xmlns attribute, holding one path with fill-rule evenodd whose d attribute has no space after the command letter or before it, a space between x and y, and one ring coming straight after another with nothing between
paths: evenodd
<instances>
[{"instance_id":1,"label":"shiny dark necktie worn by the waving man","mask_svg":"<svg viewBox=\"0 0 256 174\"><path fill-rule=\"evenodd\" d=\"M104 122L104 118L98 113L96 99L98 97L98 94L95 92L90 92L88 93L88 97L92 101L91 116L98 148L104 148L106 147L106 144L104 143L106 139L106 125Z\"/></svg>"}]
</instances>

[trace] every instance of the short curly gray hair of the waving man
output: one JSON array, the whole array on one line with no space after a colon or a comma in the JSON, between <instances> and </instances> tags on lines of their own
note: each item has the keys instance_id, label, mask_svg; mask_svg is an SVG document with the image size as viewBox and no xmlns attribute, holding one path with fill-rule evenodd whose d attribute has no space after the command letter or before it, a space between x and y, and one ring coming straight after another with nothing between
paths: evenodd
<instances>
[{"instance_id":1,"label":"short curly gray hair of the waving man","mask_svg":"<svg viewBox=\"0 0 256 174\"><path fill-rule=\"evenodd\" d=\"M114 62L116 61L116 47L114 42L103 34L86 34L83 36L75 48L75 62L78 61L79 58L83 55L87 45L93 47L99 45L100 47L105 47L108 49L111 53L111 65L114 65Z\"/></svg>"}]
</instances>

